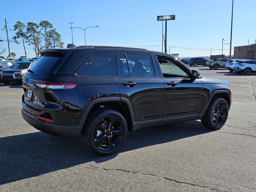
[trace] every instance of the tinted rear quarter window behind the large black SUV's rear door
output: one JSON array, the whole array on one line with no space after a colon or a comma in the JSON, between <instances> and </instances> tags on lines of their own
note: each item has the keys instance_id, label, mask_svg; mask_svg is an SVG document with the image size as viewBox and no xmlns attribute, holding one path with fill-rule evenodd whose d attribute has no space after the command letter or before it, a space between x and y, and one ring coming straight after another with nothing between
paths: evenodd
<instances>
[{"instance_id":1,"label":"tinted rear quarter window behind the large black SUV's rear door","mask_svg":"<svg viewBox=\"0 0 256 192\"><path fill-rule=\"evenodd\" d=\"M76 72L78 76L116 76L116 54L98 53L90 56Z\"/></svg>"}]
</instances>

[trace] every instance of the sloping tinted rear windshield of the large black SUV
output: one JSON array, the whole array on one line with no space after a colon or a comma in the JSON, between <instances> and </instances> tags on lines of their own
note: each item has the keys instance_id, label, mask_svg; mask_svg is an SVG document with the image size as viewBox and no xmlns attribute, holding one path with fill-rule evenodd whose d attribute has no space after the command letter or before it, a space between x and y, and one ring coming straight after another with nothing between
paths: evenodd
<instances>
[{"instance_id":1,"label":"sloping tinted rear windshield of the large black SUV","mask_svg":"<svg viewBox=\"0 0 256 192\"><path fill-rule=\"evenodd\" d=\"M40 76L53 76L62 56L63 54L60 52L44 53L30 68L33 72L31 73Z\"/></svg>"}]
</instances>

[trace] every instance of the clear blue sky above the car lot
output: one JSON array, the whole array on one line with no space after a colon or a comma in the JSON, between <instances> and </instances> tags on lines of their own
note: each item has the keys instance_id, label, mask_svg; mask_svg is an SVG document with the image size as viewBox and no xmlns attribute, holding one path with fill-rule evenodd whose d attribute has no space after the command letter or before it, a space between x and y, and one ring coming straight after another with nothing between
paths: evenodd
<instances>
[{"instance_id":1,"label":"clear blue sky above the car lot","mask_svg":"<svg viewBox=\"0 0 256 192\"><path fill-rule=\"evenodd\" d=\"M72 42L73 26L86 28L87 45L140 46L161 51L162 22L158 15L175 14L176 20L168 21L167 45L170 53L180 57L221 54L222 38L229 43L232 0L4 0L1 2L0 26L4 18L12 28L17 20L36 22L48 20L61 34L64 46ZM11 8L10 8L11 7ZM247 45L256 39L256 0L234 0L234 46ZM9 37L14 36L9 31ZM74 44L84 45L84 32L73 29ZM0 30L0 39L6 32ZM6 42L0 42L6 48ZM32 46L26 45L28 56L34 57ZM169 48L168 48L169 51ZM24 55L22 44L10 43L10 52ZM229 44L224 44L224 54L229 54Z\"/></svg>"}]
</instances>

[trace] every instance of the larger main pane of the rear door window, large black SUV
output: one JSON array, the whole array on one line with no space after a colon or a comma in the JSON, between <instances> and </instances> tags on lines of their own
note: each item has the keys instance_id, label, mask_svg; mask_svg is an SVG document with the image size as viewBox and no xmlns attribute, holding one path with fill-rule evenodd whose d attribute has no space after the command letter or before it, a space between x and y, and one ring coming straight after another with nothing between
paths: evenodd
<instances>
[{"instance_id":1,"label":"larger main pane of the rear door window, large black SUV","mask_svg":"<svg viewBox=\"0 0 256 192\"><path fill-rule=\"evenodd\" d=\"M128 65L132 77L155 77L151 55L127 54Z\"/></svg>"}]
</instances>

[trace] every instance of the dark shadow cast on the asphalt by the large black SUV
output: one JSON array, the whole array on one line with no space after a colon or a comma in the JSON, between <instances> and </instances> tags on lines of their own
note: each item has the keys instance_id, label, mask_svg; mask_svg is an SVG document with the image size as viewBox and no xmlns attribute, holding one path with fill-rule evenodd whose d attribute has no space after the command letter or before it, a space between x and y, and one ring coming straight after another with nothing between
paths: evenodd
<instances>
[{"instance_id":1,"label":"dark shadow cast on the asphalt by the large black SUV","mask_svg":"<svg viewBox=\"0 0 256 192\"><path fill-rule=\"evenodd\" d=\"M200 121L144 128L128 134L118 153L172 142L211 132ZM96 156L84 150L80 138L42 132L0 138L0 185L69 168L86 162L105 162L114 157Z\"/></svg>"}]
</instances>

